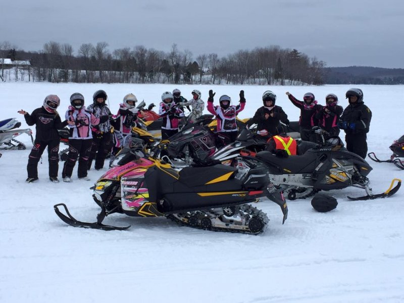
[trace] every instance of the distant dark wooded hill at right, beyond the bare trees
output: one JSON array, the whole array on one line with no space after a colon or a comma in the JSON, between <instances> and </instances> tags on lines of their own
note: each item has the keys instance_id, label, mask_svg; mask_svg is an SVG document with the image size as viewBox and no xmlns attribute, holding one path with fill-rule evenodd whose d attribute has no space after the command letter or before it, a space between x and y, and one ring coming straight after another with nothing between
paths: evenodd
<instances>
[{"instance_id":1,"label":"distant dark wooded hill at right, beyond the bare trees","mask_svg":"<svg viewBox=\"0 0 404 303\"><path fill-rule=\"evenodd\" d=\"M404 69L369 66L326 67L325 84L404 84Z\"/></svg>"}]
</instances>

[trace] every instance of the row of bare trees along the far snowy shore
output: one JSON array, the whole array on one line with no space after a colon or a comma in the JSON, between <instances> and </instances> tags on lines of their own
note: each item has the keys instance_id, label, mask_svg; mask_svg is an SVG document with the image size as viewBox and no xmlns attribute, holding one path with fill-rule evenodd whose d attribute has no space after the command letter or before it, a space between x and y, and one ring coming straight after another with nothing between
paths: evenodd
<instances>
[{"instance_id":1,"label":"row of bare trees along the far snowy shore","mask_svg":"<svg viewBox=\"0 0 404 303\"><path fill-rule=\"evenodd\" d=\"M110 52L107 42L83 43L75 54L69 43L49 41L41 51L30 52L16 50L4 41L0 43L0 58L29 60L31 65L24 67L23 75L20 72L29 81L77 83L320 85L325 66L297 49L280 46L239 50L225 57L211 53L193 58L177 44L169 52L142 45Z\"/></svg>"}]
</instances>

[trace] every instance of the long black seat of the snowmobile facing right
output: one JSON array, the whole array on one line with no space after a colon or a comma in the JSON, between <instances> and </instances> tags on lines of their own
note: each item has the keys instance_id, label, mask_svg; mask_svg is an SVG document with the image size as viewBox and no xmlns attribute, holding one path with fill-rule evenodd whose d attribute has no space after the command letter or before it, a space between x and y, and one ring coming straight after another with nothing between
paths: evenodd
<instances>
[{"instance_id":1,"label":"long black seat of the snowmobile facing right","mask_svg":"<svg viewBox=\"0 0 404 303\"><path fill-rule=\"evenodd\" d=\"M305 153L301 156L279 158L270 151L260 151L256 158L263 161L274 174L311 174L316 169L317 157L314 153Z\"/></svg>"}]
</instances>

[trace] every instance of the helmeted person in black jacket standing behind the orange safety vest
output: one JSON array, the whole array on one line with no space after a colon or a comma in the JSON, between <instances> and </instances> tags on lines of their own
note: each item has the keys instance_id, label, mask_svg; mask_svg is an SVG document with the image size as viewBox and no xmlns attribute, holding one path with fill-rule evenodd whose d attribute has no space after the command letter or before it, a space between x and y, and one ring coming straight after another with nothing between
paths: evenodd
<instances>
[{"instance_id":1,"label":"helmeted person in black jacket standing behind the orange safety vest","mask_svg":"<svg viewBox=\"0 0 404 303\"><path fill-rule=\"evenodd\" d=\"M275 105L276 94L267 90L262 95L264 106L260 107L254 117L248 121L248 125L257 123L257 134L260 139L267 140L278 135L279 121L289 124L287 115L280 106Z\"/></svg>"}]
</instances>

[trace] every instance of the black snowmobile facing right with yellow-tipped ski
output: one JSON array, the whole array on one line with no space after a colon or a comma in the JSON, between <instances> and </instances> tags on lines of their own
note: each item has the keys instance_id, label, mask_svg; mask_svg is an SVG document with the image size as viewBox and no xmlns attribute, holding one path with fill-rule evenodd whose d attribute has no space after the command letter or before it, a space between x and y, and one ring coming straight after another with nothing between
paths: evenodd
<instances>
[{"instance_id":1,"label":"black snowmobile facing right with yellow-tipped ski","mask_svg":"<svg viewBox=\"0 0 404 303\"><path fill-rule=\"evenodd\" d=\"M318 130L318 133L324 132ZM320 190L354 186L365 189L367 195L351 200L384 198L393 195L401 180L393 179L387 191L373 194L367 175L372 167L361 157L350 153L339 137L317 144L301 156L280 158L269 151L260 151L256 158L266 164L271 182L282 188L290 200L312 196ZM397 184L393 187L395 181Z\"/></svg>"}]
</instances>

